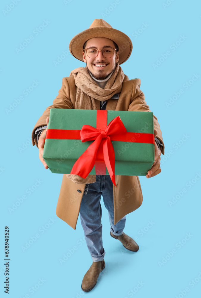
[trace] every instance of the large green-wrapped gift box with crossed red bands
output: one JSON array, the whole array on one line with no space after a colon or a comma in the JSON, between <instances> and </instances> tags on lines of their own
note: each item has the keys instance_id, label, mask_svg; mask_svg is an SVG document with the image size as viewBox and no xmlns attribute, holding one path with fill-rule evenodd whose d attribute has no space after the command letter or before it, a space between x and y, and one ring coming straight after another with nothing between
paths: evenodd
<instances>
[{"instance_id":1,"label":"large green-wrapped gift box with crossed red bands","mask_svg":"<svg viewBox=\"0 0 201 298\"><path fill-rule=\"evenodd\" d=\"M113 128L111 128L110 124L111 133L109 138L107 138L105 131L109 129L107 125L112 120ZM116 124L116 121L123 123ZM90 125L90 127L87 125ZM122 128L124 132L120 132L118 135L121 130L119 125L121 127L122 125L124 126L126 133L124 128ZM86 128L86 134L89 133L90 135L89 130L92 129L93 134L102 134L102 137L99 137L99 139L103 138L96 154L96 162L89 174L109 175L107 167L105 167L104 173L106 163L104 156L107 153L104 153L105 155L102 153L105 146L103 143L106 139L111 139L111 144L108 145L110 149L108 151L108 159L110 159L112 150L114 150L115 175L146 176L148 170L151 169L154 163L154 124L152 112L51 108L43 159L52 173L72 174L71 171L77 159L95 142L94 139L82 142L80 136L82 127ZM114 133L114 131L116 132ZM82 165L84 170L88 167L89 158L90 154L85 158L85 164ZM111 172L111 170L109 171Z\"/></svg>"}]
</instances>

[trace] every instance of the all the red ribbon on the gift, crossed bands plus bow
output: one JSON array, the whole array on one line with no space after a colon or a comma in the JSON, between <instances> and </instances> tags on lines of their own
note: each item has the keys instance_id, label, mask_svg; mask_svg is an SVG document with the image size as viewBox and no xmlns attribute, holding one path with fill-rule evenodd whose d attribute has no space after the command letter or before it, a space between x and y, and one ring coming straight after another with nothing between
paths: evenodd
<instances>
[{"instance_id":1,"label":"all the red ribbon on the gift, crossed bands plus bow","mask_svg":"<svg viewBox=\"0 0 201 298\"><path fill-rule=\"evenodd\" d=\"M108 173L113 184L115 182L115 153L111 140L124 142L139 142L154 144L154 135L145 133L130 133L118 116L107 125L107 110L97 110L96 128L83 125L80 130L47 129L46 139L80 139L82 142L94 141L77 159L71 174L86 178L94 167L96 175L99 172Z\"/></svg>"}]
</instances>

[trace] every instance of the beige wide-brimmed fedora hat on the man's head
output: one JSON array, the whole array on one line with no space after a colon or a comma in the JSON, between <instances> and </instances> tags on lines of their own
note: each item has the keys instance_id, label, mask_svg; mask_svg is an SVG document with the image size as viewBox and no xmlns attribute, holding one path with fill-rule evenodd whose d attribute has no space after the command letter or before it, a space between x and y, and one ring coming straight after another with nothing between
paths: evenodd
<instances>
[{"instance_id":1,"label":"beige wide-brimmed fedora hat on the man's head","mask_svg":"<svg viewBox=\"0 0 201 298\"><path fill-rule=\"evenodd\" d=\"M89 29L86 29L71 39L69 50L71 54L80 61L83 61L83 45L94 37L105 37L114 41L119 49L119 64L124 63L131 55L133 45L130 38L123 32L112 28L110 24L102 19L95 19Z\"/></svg>"}]
</instances>

